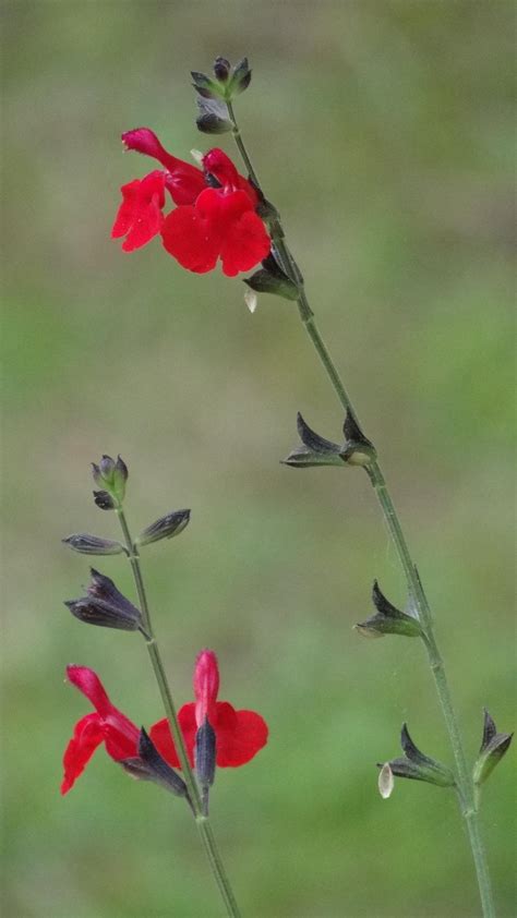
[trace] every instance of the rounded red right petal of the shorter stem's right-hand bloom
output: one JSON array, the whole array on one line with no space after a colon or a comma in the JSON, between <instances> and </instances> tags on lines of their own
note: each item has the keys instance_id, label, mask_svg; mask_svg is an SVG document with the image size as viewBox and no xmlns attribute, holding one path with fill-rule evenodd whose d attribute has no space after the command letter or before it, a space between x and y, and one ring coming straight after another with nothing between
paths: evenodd
<instances>
[{"instance_id":1,"label":"rounded red right petal of the shorter stem's right-hand bloom","mask_svg":"<svg viewBox=\"0 0 517 918\"><path fill-rule=\"evenodd\" d=\"M267 742L267 724L254 711L236 711L227 701L217 702L217 764L244 765Z\"/></svg>"}]
</instances>

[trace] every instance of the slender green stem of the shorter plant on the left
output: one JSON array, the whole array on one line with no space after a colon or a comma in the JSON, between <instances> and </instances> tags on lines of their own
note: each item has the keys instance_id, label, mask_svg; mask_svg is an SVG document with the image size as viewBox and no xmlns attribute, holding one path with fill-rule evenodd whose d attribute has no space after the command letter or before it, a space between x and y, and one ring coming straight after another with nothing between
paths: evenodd
<instances>
[{"instance_id":1,"label":"slender green stem of the shorter plant on the left","mask_svg":"<svg viewBox=\"0 0 517 918\"><path fill-rule=\"evenodd\" d=\"M128 549L128 559L133 571L136 592L139 593L142 619L144 623L144 629L146 631L146 635L144 635L145 643L147 644L147 650L149 652L151 662L153 664L153 669L156 676L156 681L158 683L161 700L164 702L164 708L166 710L167 718L169 721L170 730L175 740L175 747L177 749L178 757L181 762L181 770L189 792L189 799L191 801L197 831L201 835L201 840L203 842L205 851L207 854L212 867L212 872L214 873L215 880L219 887L219 892L226 905L227 913L230 916L230 918L239 918L240 911L236 902L236 897L233 895L230 881L225 870L225 866L220 858L217 843L214 837L214 832L212 830L208 817L205 813L205 807L200 795L200 789L197 787L197 783L195 781L194 773L192 771L189 757L187 754L183 735L180 729L178 714L176 712L175 702L172 700L172 694L170 692L169 684L167 681L167 676L165 673L164 663L161 661L159 647L154 636L153 624L151 620L151 612L147 602L147 594L145 592L144 580L142 577L142 568L140 566L139 546L135 542L133 542L130 529L128 527L128 521L125 519L125 514L122 507L119 507L117 509L117 516L119 518L120 527L123 532L125 547Z\"/></svg>"}]
</instances>

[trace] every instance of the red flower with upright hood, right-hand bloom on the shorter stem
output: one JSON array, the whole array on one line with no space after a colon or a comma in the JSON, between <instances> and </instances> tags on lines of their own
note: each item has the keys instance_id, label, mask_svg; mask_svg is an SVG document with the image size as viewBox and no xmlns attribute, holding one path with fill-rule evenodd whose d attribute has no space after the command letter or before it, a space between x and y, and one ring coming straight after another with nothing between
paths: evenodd
<instances>
[{"instance_id":1,"label":"red flower with upright hood, right-hand bloom on the shorter stem","mask_svg":"<svg viewBox=\"0 0 517 918\"><path fill-rule=\"evenodd\" d=\"M195 662L195 702L183 704L178 717L187 752L194 764L195 734L205 721L216 734L216 763L219 768L244 765L267 742L267 724L254 711L236 711L228 701L217 701L219 672L212 650L203 650ZM180 766L167 720L158 721L149 736L169 764Z\"/></svg>"}]
</instances>

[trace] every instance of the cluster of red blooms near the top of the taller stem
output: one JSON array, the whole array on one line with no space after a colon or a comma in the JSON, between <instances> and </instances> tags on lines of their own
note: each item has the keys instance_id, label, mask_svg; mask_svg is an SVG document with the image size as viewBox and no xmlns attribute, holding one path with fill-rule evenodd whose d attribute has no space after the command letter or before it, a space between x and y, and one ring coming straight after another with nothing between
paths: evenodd
<instances>
[{"instance_id":1,"label":"cluster of red blooms near the top of the taller stem","mask_svg":"<svg viewBox=\"0 0 517 918\"><path fill-rule=\"evenodd\" d=\"M128 131L122 141L127 149L152 156L165 168L122 185L111 237L125 237L125 252L160 233L164 247L182 267L204 274L220 259L227 277L267 257L270 240L255 212L258 195L221 149L203 157L202 171L168 153L148 128ZM178 206L164 216L166 190Z\"/></svg>"}]
</instances>

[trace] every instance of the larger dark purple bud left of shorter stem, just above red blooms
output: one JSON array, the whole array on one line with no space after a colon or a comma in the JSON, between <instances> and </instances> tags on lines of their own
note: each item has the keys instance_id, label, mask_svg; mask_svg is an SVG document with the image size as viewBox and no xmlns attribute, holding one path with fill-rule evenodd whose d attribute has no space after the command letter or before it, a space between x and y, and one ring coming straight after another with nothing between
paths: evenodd
<instances>
[{"instance_id":1,"label":"larger dark purple bud left of shorter stem, just above red blooms","mask_svg":"<svg viewBox=\"0 0 517 918\"><path fill-rule=\"evenodd\" d=\"M142 628L140 611L117 590L113 581L92 568L92 582L87 595L68 600L64 605L72 615L86 625L139 631Z\"/></svg>"}]
</instances>

